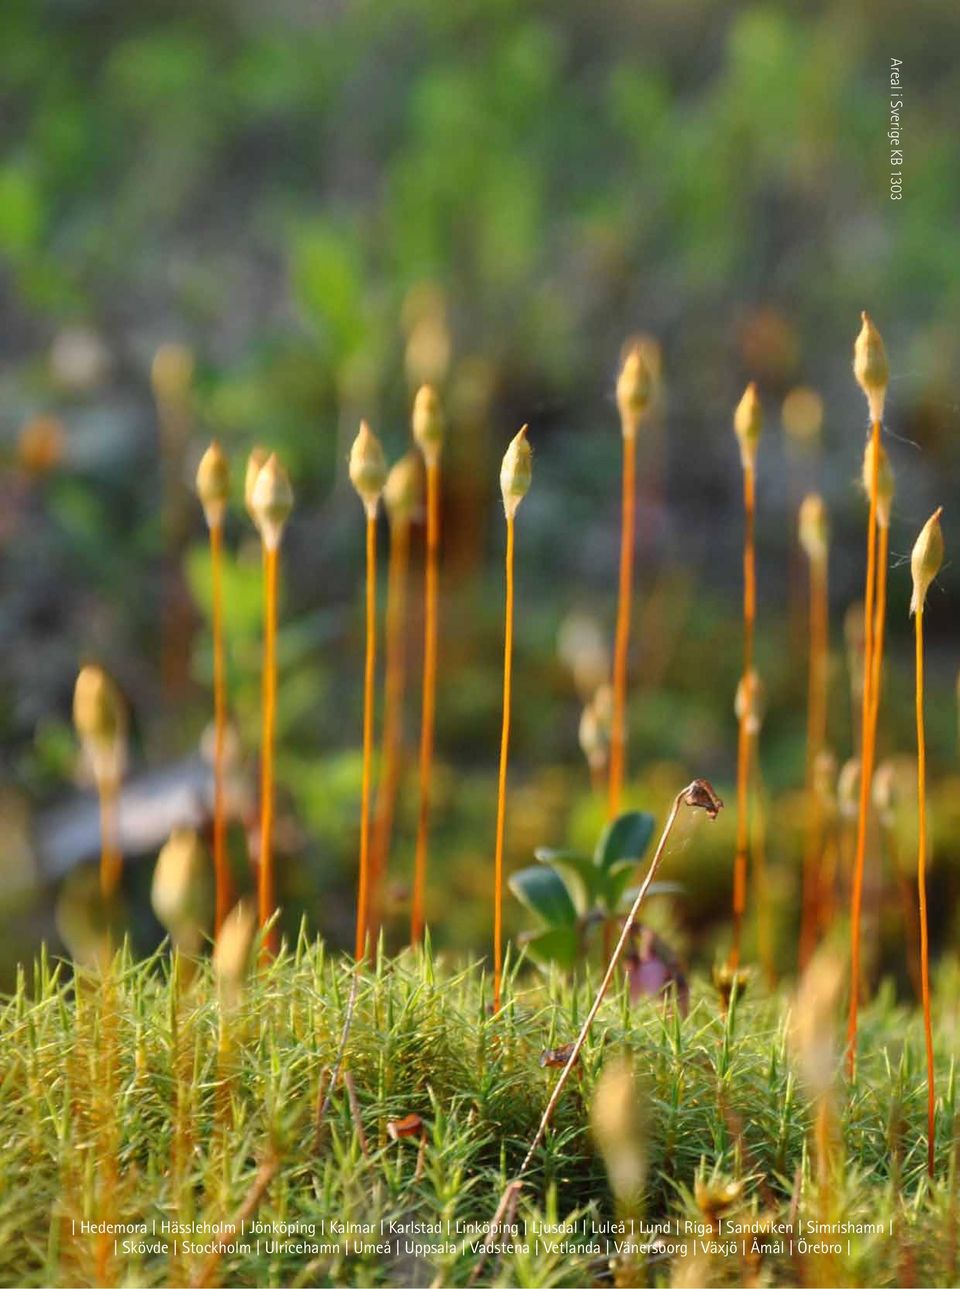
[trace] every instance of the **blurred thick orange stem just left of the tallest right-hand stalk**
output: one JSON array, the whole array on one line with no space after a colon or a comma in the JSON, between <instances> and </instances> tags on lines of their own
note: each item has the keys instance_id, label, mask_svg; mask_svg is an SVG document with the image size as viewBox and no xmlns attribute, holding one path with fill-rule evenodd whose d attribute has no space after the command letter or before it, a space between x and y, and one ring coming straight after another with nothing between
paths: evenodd
<instances>
[{"instance_id":1,"label":"blurred thick orange stem just left of the tallest right-hand stalk","mask_svg":"<svg viewBox=\"0 0 960 1289\"><path fill-rule=\"evenodd\" d=\"M829 598L826 559L811 561L811 654L807 692L807 847L803 866L803 914L800 926L800 969L807 965L817 940L821 920L820 866L823 852L823 816L814 784L817 755L826 744Z\"/></svg>"}]
</instances>

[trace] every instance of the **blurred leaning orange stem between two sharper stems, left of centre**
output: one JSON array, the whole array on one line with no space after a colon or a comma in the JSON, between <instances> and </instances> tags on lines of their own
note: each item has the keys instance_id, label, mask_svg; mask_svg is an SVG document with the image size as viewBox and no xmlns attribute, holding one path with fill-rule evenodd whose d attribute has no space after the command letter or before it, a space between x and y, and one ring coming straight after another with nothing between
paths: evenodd
<instances>
[{"instance_id":1,"label":"blurred leaning orange stem between two sharper stems, left of centre","mask_svg":"<svg viewBox=\"0 0 960 1289\"><path fill-rule=\"evenodd\" d=\"M390 558L387 572L387 647L384 679L384 719L380 764L381 780L376 794L374 837L370 851L371 928L383 915L383 879L390 851L393 815L402 763L403 691L406 688L406 602L410 566L410 521L390 525Z\"/></svg>"}]
</instances>

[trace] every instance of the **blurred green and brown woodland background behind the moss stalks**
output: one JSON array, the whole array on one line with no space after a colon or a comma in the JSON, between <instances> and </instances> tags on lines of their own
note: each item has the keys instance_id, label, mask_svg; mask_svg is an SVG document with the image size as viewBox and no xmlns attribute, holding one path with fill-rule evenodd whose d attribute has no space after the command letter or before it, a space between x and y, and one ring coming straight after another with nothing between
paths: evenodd
<instances>
[{"instance_id":1,"label":"blurred green and brown woodland background behind the moss stalks","mask_svg":"<svg viewBox=\"0 0 960 1289\"><path fill-rule=\"evenodd\" d=\"M577 746L558 632L612 641L620 517L613 402L626 336L658 339L664 410L640 445L630 802L658 815L692 773L732 798L740 670L740 465L732 407L756 379L762 767L781 969L795 960L804 773L804 580L795 508L831 508L830 740L852 750L841 621L861 594L866 407L850 375L869 308L892 363L897 473L880 754L910 755L908 556L937 503L960 541L960 214L950 0L8 0L0 41L0 971L82 901L93 799L70 723L101 661L131 710L144 835L193 790L210 714L200 451L281 452L281 887L286 926L348 944L356 880L362 516L345 477L361 415L388 456L411 393L450 415L430 920L488 944L500 722L500 455L536 449L518 523L508 861L589 843L602 804ZM905 196L888 196L890 58L903 61ZM157 349L193 371L158 415ZM171 351L165 351L168 357ZM174 356L179 351L173 351ZM812 387L822 428L787 416ZM794 406L796 406L794 403ZM169 409L168 409L169 412ZM407 746L419 722L416 530ZM238 776L255 777L259 548L231 518L228 629ZM385 556L385 527L381 534ZM385 561L384 561L385 562ZM960 579L930 599L933 936L955 942ZM411 757L390 853L403 940ZM186 782L187 788L183 789ZM173 803L171 803L173 802ZM179 802L179 804L178 804ZM157 822L160 820L160 822ZM732 812L671 858L678 945L724 945ZM238 877L245 834L232 834ZM879 851L879 847L875 846ZM151 844L124 879L139 945L160 937ZM878 855L879 862L879 855ZM81 893L77 896L76 892ZM71 893L73 892L73 893ZM902 923L870 896L885 965ZM527 923L509 901L509 926ZM63 923L63 918L61 918Z\"/></svg>"}]
</instances>

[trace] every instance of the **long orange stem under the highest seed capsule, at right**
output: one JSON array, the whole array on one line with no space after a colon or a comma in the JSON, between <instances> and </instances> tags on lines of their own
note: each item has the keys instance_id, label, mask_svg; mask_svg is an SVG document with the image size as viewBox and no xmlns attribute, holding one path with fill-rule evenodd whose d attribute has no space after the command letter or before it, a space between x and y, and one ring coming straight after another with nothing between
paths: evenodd
<instances>
[{"instance_id":1,"label":"long orange stem under the highest seed capsule, at right","mask_svg":"<svg viewBox=\"0 0 960 1289\"><path fill-rule=\"evenodd\" d=\"M863 902L863 860L867 846L870 785L874 777L870 737L874 682L874 603L876 590L876 500L880 468L880 422L871 429L870 516L867 519L867 584L863 597L863 700L861 713L859 811L857 815L857 853L850 893L850 1013L847 1023L847 1072L857 1070L857 1011L859 1005L859 920Z\"/></svg>"}]
</instances>

